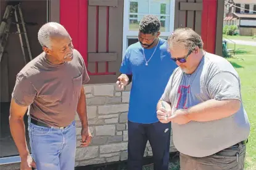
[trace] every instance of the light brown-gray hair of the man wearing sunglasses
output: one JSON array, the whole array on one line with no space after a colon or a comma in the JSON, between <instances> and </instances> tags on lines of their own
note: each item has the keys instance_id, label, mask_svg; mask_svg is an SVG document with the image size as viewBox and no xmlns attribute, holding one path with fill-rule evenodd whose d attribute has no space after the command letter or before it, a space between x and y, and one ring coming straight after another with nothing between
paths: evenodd
<instances>
[{"instance_id":1,"label":"light brown-gray hair of the man wearing sunglasses","mask_svg":"<svg viewBox=\"0 0 256 170\"><path fill-rule=\"evenodd\" d=\"M176 45L184 45L187 50L194 50L194 48L203 48L202 38L191 28L178 28L168 37L169 48Z\"/></svg>"}]
</instances>

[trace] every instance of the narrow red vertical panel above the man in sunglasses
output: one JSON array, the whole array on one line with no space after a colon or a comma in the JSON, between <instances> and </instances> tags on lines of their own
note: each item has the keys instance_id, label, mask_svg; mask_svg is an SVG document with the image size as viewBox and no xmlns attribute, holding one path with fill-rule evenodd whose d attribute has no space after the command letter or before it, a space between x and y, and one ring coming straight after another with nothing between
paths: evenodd
<instances>
[{"instance_id":1,"label":"narrow red vertical panel above the man in sunglasses","mask_svg":"<svg viewBox=\"0 0 256 170\"><path fill-rule=\"evenodd\" d=\"M218 0L203 0L201 36L207 52L215 53Z\"/></svg>"}]
</instances>

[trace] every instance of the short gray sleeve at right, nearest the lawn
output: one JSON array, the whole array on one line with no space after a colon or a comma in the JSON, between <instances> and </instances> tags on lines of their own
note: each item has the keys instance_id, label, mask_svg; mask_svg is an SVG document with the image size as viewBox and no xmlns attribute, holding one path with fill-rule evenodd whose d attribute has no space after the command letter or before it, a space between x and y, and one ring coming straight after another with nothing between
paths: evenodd
<instances>
[{"instance_id":1,"label":"short gray sleeve at right, nearest the lawn","mask_svg":"<svg viewBox=\"0 0 256 170\"><path fill-rule=\"evenodd\" d=\"M207 84L210 98L216 100L239 99L241 101L240 80L232 72L218 72Z\"/></svg>"}]
</instances>

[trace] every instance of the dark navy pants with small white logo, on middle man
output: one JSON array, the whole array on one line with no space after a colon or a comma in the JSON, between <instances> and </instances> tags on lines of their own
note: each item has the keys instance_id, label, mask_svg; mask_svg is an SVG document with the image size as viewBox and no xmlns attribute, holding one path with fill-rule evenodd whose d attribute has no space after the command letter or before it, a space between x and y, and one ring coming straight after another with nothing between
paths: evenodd
<instances>
[{"instance_id":1,"label":"dark navy pants with small white logo, on middle man","mask_svg":"<svg viewBox=\"0 0 256 170\"><path fill-rule=\"evenodd\" d=\"M168 170L171 123L128 122L128 170L141 170L147 141L151 144L154 170Z\"/></svg>"}]
</instances>

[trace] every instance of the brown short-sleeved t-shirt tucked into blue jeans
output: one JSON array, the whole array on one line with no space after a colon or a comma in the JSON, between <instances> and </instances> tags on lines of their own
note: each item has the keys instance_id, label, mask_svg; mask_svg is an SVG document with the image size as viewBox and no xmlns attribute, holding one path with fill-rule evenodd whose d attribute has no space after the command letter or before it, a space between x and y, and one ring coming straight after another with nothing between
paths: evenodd
<instances>
[{"instance_id":1,"label":"brown short-sleeved t-shirt tucked into blue jeans","mask_svg":"<svg viewBox=\"0 0 256 170\"><path fill-rule=\"evenodd\" d=\"M28 114L51 126L68 126L75 119L81 87L89 81L85 63L77 50L73 60L52 64L45 53L30 61L17 74L12 98L30 106Z\"/></svg>"}]
</instances>

